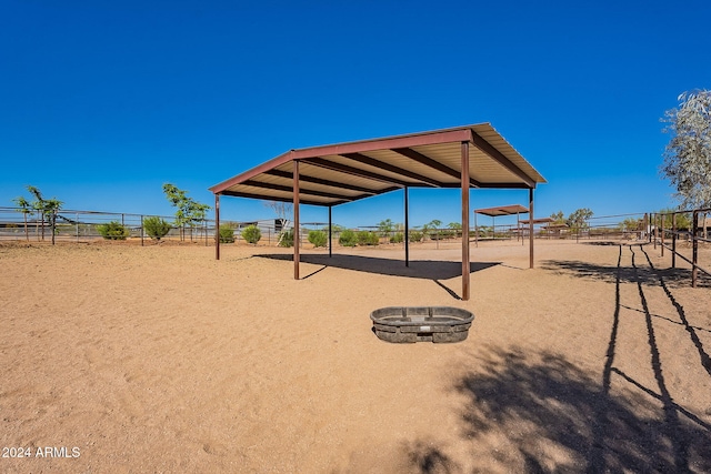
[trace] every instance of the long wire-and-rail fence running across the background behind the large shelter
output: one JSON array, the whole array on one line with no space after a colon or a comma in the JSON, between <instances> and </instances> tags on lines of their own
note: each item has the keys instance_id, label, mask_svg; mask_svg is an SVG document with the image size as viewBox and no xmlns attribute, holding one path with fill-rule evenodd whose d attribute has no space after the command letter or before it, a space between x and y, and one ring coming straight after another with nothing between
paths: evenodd
<instances>
[{"instance_id":1,"label":"long wire-and-rail fence running across the background behind the large shelter","mask_svg":"<svg viewBox=\"0 0 711 474\"><path fill-rule=\"evenodd\" d=\"M23 213L20 208L0 208L0 240L14 241L74 241L91 242L104 239L101 235L100 226L108 223L119 223L128 231L127 239L133 242L146 244L151 238L146 230L148 218L160 218L167 222L173 222L173 216L60 210L54 219L41 215L30 210ZM711 262L703 262L704 255L711 253L708 249L705 233L707 214L710 209L699 209L690 211L675 211L665 213L633 213L594 216L578 225L547 222L534 226L533 236L535 239L574 239L580 240L614 240L614 241L640 241L661 245L662 255L665 250L672 253L672 268L677 268L679 261L687 262L692 269L692 285L695 286L699 272L711 275L709 268ZM552 220L551 220L552 221ZM53 225L52 225L53 223ZM286 224L286 225L284 225ZM260 245L277 245L280 242L282 231L289 229L288 223L280 219L261 220L252 222L237 222L222 220L221 228L228 228L234 242L244 243L244 229L254 225L260 230ZM328 235L328 223L304 223L300 229L300 242L308 244L311 231L322 231ZM344 232L349 239L342 239ZM500 224L500 225L478 225L475 230L469 230L469 238L472 241L521 241L523 243L529 238L528 224ZM193 225L176 226L171 225L163 241L186 241L213 245L216 236L214 221L206 219L196 222ZM434 242L437 248L440 243L448 241L461 241L462 230L453 228L430 228L420 226L409 230L410 242ZM334 226L331 239L341 246L353 245L378 245L378 244L403 244L403 229L390 229L383 231L378 225L360 226L346 230ZM327 242L328 244L328 242ZM703 252L700 252L700 244ZM701 261L701 262L700 262Z\"/></svg>"}]
</instances>

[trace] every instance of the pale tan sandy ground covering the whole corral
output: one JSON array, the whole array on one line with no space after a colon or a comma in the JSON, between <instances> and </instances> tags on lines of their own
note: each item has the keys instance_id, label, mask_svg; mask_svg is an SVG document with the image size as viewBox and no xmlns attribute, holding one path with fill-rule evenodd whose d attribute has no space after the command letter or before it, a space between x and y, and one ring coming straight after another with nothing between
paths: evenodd
<instances>
[{"instance_id":1,"label":"pale tan sandy ground covering the whole corral","mask_svg":"<svg viewBox=\"0 0 711 474\"><path fill-rule=\"evenodd\" d=\"M459 244L338 252L0 244L0 472L711 472L710 285L669 254L472 245L464 302ZM390 344L390 305L475 320Z\"/></svg>"}]
</instances>

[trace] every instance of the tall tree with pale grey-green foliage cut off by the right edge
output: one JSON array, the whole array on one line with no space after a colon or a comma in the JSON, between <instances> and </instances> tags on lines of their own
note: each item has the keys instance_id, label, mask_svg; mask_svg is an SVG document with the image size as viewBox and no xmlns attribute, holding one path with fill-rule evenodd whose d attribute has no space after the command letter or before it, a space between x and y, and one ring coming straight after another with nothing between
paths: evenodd
<instances>
[{"instance_id":1,"label":"tall tree with pale grey-green foliage cut off by the right edge","mask_svg":"<svg viewBox=\"0 0 711 474\"><path fill-rule=\"evenodd\" d=\"M677 100L679 107L662 119L671 139L661 173L677 189L680 209L711 208L711 90L683 92Z\"/></svg>"}]
</instances>

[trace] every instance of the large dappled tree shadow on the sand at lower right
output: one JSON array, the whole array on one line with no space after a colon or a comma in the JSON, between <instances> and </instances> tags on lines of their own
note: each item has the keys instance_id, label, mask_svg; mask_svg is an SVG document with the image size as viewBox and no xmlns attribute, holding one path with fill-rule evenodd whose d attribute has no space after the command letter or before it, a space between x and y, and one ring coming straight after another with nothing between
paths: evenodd
<instances>
[{"instance_id":1,"label":"large dappled tree shadow on the sand at lower right","mask_svg":"<svg viewBox=\"0 0 711 474\"><path fill-rule=\"evenodd\" d=\"M610 394L561 355L490 352L455 390L469 402L463 436L504 436L510 472L709 472L711 426L612 369L631 385ZM617 392L620 392L619 390ZM493 446L492 446L493 447ZM502 454L508 453L508 454Z\"/></svg>"}]
</instances>

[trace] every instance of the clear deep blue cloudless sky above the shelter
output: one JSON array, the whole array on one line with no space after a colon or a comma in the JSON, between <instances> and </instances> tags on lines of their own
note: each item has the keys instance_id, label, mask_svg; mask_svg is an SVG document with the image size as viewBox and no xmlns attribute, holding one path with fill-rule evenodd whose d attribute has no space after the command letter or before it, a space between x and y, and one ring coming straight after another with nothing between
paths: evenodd
<instances>
[{"instance_id":1,"label":"clear deep blue cloudless sky above the shelter","mask_svg":"<svg viewBox=\"0 0 711 474\"><path fill-rule=\"evenodd\" d=\"M212 204L209 186L289 149L479 122L548 180L537 216L672 206L660 118L711 87L709 18L707 0L0 0L0 206L32 184L66 209L171 215L166 182ZM402 222L402 200L333 219ZM413 225L461 220L455 190L410 206Z\"/></svg>"}]
</instances>

